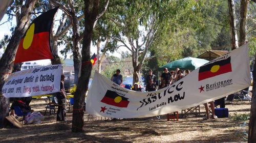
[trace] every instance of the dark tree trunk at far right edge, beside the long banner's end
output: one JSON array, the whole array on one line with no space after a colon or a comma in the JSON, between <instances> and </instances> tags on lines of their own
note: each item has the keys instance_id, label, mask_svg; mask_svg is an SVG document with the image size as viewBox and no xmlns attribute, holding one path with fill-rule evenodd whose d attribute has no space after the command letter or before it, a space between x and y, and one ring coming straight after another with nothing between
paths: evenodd
<instances>
[{"instance_id":1,"label":"dark tree trunk at far right edge, beside the long banner's end","mask_svg":"<svg viewBox=\"0 0 256 143\"><path fill-rule=\"evenodd\" d=\"M255 54L256 61L256 54ZM256 142L256 62L253 66L253 82L252 82L252 97L251 97L251 111L250 111L250 121L248 130L248 143Z\"/></svg>"}]
</instances>

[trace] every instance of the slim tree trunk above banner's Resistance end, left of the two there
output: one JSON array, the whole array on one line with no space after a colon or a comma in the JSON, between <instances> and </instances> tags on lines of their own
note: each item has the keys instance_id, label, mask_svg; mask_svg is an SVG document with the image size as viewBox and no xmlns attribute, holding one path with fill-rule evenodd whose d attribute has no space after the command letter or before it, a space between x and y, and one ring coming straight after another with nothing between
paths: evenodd
<instances>
[{"instance_id":1,"label":"slim tree trunk above banner's Resistance end, left of the two there","mask_svg":"<svg viewBox=\"0 0 256 143\"><path fill-rule=\"evenodd\" d=\"M234 8L234 1L228 0L228 8L229 8L229 26L230 26L230 34L231 34L231 43L232 50L238 48L238 34L237 34L237 24L236 24L236 11Z\"/></svg>"}]
</instances>

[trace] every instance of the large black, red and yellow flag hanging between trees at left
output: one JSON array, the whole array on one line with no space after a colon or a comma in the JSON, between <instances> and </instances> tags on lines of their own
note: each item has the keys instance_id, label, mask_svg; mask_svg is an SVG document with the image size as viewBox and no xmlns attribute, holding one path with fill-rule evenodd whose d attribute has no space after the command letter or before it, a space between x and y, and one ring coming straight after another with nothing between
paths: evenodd
<instances>
[{"instance_id":1,"label":"large black, red and yellow flag hanging between trees at left","mask_svg":"<svg viewBox=\"0 0 256 143\"><path fill-rule=\"evenodd\" d=\"M58 7L35 18L19 42L14 63L53 59L50 47L50 30Z\"/></svg>"}]
</instances>

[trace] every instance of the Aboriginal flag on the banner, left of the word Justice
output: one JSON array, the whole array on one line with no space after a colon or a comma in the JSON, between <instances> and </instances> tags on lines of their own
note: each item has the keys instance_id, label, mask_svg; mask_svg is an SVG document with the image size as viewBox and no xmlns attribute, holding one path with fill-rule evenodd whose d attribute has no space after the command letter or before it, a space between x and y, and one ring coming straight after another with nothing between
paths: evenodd
<instances>
[{"instance_id":1,"label":"Aboriginal flag on the banner, left of the word Justice","mask_svg":"<svg viewBox=\"0 0 256 143\"><path fill-rule=\"evenodd\" d=\"M118 95L116 92L108 90L106 91L105 96L101 99L101 102L117 107L126 108L130 102L128 99L129 98Z\"/></svg>"}]
</instances>

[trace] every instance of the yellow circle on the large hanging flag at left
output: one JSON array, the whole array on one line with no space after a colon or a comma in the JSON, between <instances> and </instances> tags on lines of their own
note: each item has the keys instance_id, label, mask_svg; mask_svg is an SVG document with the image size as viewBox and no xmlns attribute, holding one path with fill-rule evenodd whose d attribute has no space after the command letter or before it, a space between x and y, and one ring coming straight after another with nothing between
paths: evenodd
<instances>
[{"instance_id":1,"label":"yellow circle on the large hanging flag at left","mask_svg":"<svg viewBox=\"0 0 256 143\"><path fill-rule=\"evenodd\" d=\"M24 49L28 49L30 47L30 45L32 44L33 37L34 37L34 31L35 31L35 23L33 23L29 26L29 29L26 33L26 36L23 41Z\"/></svg>"}]
</instances>

